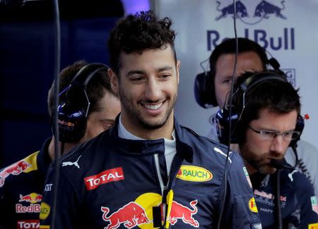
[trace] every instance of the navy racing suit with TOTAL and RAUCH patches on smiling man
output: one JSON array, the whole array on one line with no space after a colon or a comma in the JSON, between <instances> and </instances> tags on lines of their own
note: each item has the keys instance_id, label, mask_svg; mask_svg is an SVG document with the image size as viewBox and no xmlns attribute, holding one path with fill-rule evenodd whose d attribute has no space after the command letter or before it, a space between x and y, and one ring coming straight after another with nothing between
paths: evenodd
<instances>
[{"instance_id":1,"label":"navy racing suit with TOTAL and RAUCH patches on smiling man","mask_svg":"<svg viewBox=\"0 0 318 229\"><path fill-rule=\"evenodd\" d=\"M170 167L165 140L127 140L118 129L119 118L62 157L56 228L216 228L225 192L225 148L175 122ZM40 228L52 221L55 166L47 174L52 189L44 192ZM230 153L226 169L221 228L260 228L240 155Z\"/></svg>"}]
</instances>

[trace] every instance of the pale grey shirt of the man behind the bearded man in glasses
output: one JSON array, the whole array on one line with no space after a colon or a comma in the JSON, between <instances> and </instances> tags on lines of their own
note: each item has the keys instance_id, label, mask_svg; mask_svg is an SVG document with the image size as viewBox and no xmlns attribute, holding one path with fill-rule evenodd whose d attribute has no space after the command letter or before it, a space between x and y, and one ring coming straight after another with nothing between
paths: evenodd
<instances>
[{"instance_id":1,"label":"pale grey shirt of the man behind the bearded man in glasses","mask_svg":"<svg viewBox=\"0 0 318 229\"><path fill-rule=\"evenodd\" d=\"M218 133L216 132L216 113L211 117L212 128L206 135L211 140L215 140L218 142ZM310 180L312 185L314 186L314 193L318 198L318 149L314 147L312 144L299 140L297 142L297 154L298 154L298 166L296 169L306 175L306 177ZM293 149L288 147L285 160L290 164L295 164L295 154Z\"/></svg>"}]
</instances>

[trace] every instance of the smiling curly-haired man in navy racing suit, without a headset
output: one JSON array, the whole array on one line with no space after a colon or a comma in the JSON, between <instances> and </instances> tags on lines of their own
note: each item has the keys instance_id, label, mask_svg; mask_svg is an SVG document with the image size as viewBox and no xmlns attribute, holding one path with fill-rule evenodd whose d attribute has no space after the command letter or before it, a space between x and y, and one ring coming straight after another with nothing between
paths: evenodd
<instances>
[{"instance_id":1,"label":"smiling curly-haired man in navy racing suit, without a headset","mask_svg":"<svg viewBox=\"0 0 318 229\"><path fill-rule=\"evenodd\" d=\"M230 154L223 179L224 147L174 118L180 61L171 25L169 18L141 12L119 20L110 34L108 74L122 113L113 128L61 160L76 161L79 168L61 167L55 218L47 211L54 193L44 193L42 228L52 222L68 229L217 228L218 223L259 228L240 155ZM47 185L54 173L52 166Z\"/></svg>"}]
</instances>

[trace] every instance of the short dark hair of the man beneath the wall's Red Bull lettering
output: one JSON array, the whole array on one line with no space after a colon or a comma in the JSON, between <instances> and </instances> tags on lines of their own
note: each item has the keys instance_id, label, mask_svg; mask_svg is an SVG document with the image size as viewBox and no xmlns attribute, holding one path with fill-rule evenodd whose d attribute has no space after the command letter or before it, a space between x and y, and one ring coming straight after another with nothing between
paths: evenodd
<instances>
[{"instance_id":1,"label":"short dark hair of the man beneath the wall's Red Bull lettering","mask_svg":"<svg viewBox=\"0 0 318 229\"><path fill-rule=\"evenodd\" d=\"M254 42L250 39L239 37L237 39L238 44L238 53L242 54L247 51L252 51L256 53L261 59L261 64L263 65L263 69L266 70L266 64L268 63L268 59L266 56L266 51L263 49L257 42ZM214 78L216 77L216 62L218 58L223 54L235 54L236 50L236 41L235 38L225 39L222 43L218 44L216 48L211 53L209 58L210 63L210 75L211 82L214 85ZM213 88L214 89L214 88Z\"/></svg>"}]
</instances>

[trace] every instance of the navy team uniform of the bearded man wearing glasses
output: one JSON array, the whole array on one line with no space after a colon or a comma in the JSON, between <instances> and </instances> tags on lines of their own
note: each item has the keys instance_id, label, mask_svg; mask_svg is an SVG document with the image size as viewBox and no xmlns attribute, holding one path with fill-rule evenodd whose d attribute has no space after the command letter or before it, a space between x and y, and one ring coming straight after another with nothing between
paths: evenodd
<instances>
[{"instance_id":1,"label":"navy team uniform of the bearded man wearing glasses","mask_svg":"<svg viewBox=\"0 0 318 229\"><path fill-rule=\"evenodd\" d=\"M309 180L296 170L283 168L281 175L281 218L283 228L318 228L317 197ZM265 228L278 228L276 224L276 174L250 176L254 197Z\"/></svg>"}]
</instances>

